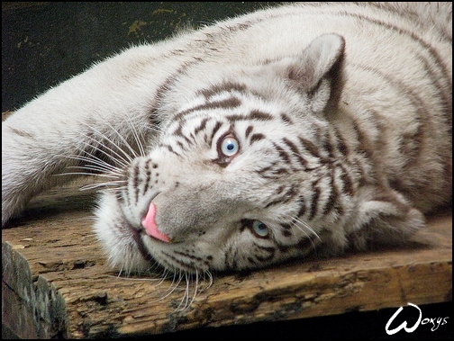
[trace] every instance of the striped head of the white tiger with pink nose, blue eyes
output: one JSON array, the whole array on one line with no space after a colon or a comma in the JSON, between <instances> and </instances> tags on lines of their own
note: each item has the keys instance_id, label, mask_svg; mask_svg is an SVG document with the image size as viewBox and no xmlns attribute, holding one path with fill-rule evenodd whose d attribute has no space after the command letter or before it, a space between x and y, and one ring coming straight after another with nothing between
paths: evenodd
<instances>
[{"instance_id":1,"label":"striped head of the white tiger with pink nose, blue eyes","mask_svg":"<svg viewBox=\"0 0 454 341\"><path fill-rule=\"evenodd\" d=\"M327 34L299 56L179 75L159 139L102 196L95 231L111 262L236 271L313 250L340 210L324 115L343 48Z\"/></svg>"}]
</instances>

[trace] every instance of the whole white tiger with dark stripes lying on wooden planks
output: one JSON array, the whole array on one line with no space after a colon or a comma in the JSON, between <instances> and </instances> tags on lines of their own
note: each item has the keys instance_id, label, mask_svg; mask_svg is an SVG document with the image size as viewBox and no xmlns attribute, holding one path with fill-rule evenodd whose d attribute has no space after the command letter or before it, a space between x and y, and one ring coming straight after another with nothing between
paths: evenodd
<instances>
[{"instance_id":1,"label":"whole white tiger with dark stripes lying on wooden planks","mask_svg":"<svg viewBox=\"0 0 454 341\"><path fill-rule=\"evenodd\" d=\"M400 242L451 198L451 17L299 3L128 49L3 123L3 224L79 166L126 272Z\"/></svg>"}]
</instances>

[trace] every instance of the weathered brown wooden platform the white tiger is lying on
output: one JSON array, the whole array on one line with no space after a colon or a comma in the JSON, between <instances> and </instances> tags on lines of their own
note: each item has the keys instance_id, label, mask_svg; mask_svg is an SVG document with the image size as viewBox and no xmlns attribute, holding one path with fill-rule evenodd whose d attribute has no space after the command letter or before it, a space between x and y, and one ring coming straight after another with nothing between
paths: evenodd
<instances>
[{"instance_id":1,"label":"weathered brown wooden platform the white tiger is lying on","mask_svg":"<svg viewBox=\"0 0 454 341\"><path fill-rule=\"evenodd\" d=\"M159 275L119 276L106 265L91 229L95 192L80 192L77 186L41 195L2 231L2 240L13 249L4 247L11 254L4 260L16 268L30 266L30 275L19 280L23 287L35 288L39 275L41 291L53 292L48 301L44 296L30 301L31 309L41 304L42 316L50 316L50 310L60 313L57 324L41 319L41 329L30 325L41 337L131 337L452 300L450 208L431 217L427 229L403 248L307 259L250 274L217 274L211 287L209 279L201 281L196 295L194 283L189 285L186 299L186 284L162 281ZM14 281L4 275L4 317L15 317L14 301L21 301ZM5 305L5 300L13 303ZM14 333L30 336L25 334L30 326ZM39 334L44 328L48 334Z\"/></svg>"}]
</instances>

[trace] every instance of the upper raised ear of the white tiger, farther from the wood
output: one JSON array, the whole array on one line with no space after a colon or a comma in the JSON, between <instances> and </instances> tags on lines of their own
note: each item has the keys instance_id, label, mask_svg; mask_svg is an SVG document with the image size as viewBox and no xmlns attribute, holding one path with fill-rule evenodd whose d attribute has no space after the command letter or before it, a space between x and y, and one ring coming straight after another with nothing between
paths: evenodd
<instances>
[{"instance_id":1,"label":"upper raised ear of the white tiger, farther from the wood","mask_svg":"<svg viewBox=\"0 0 454 341\"><path fill-rule=\"evenodd\" d=\"M289 81L308 95L313 112L329 110L339 101L344 48L343 37L334 33L323 34L287 66Z\"/></svg>"}]
</instances>

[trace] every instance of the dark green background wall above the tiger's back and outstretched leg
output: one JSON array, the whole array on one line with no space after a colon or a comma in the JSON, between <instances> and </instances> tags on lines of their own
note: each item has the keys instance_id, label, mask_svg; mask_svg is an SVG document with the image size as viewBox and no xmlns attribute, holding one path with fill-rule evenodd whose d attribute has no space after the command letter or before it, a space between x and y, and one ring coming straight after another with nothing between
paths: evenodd
<instances>
[{"instance_id":1,"label":"dark green background wall above the tiger's back and outstretched leg","mask_svg":"<svg viewBox=\"0 0 454 341\"><path fill-rule=\"evenodd\" d=\"M132 44L268 4L2 3L2 112Z\"/></svg>"}]
</instances>

